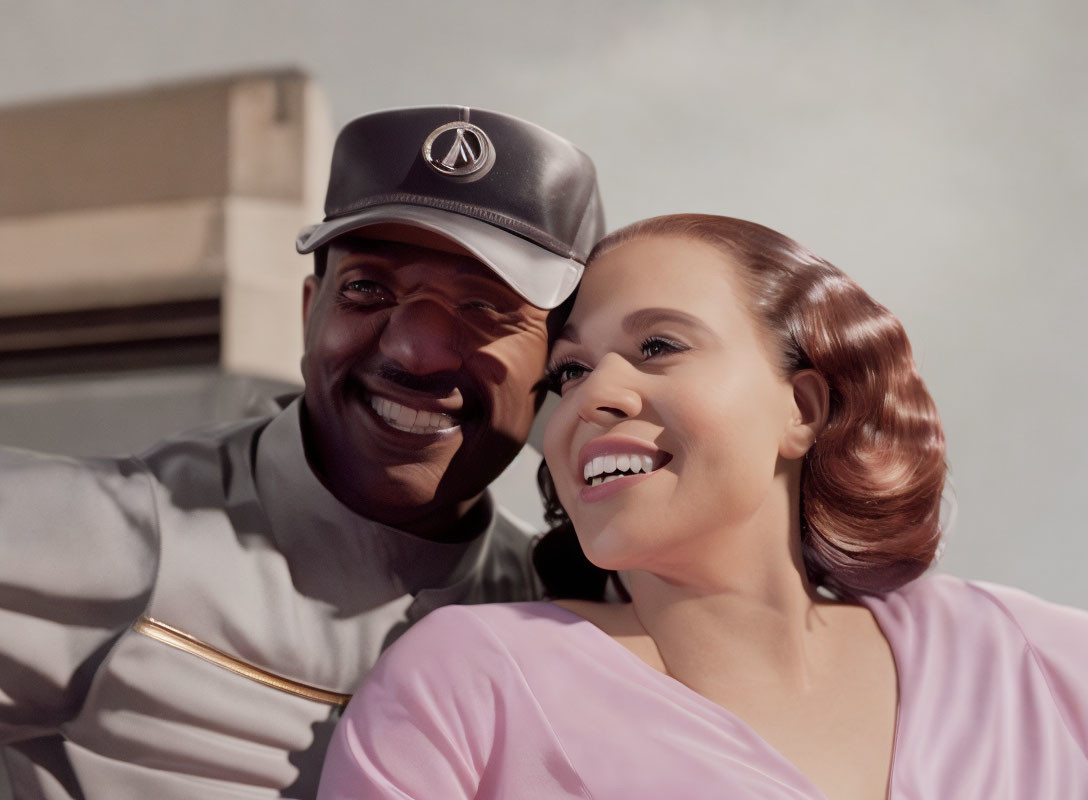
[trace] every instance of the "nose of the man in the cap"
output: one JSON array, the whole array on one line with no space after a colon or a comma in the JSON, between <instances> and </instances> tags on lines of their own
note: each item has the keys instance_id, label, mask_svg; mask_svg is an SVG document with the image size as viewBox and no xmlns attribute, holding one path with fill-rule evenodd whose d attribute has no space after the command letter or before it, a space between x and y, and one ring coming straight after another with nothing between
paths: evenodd
<instances>
[{"instance_id":1,"label":"nose of the man in the cap","mask_svg":"<svg viewBox=\"0 0 1088 800\"><path fill-rule=\"evenodd\" d=\"M453 311L433 299L403 303L382 331L382 355L413 374L461 368L461 325Z\"/></svg>"}]
</instances>

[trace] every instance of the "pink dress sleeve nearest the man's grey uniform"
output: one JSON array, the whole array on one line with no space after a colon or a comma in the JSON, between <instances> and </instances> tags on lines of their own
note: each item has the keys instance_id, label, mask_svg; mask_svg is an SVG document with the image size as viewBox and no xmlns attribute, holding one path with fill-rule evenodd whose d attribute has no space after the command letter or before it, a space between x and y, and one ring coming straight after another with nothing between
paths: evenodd
<instances>
[{"instance_id":1,"label":"pink dress sleeve nearest the man's grey uniform","mask_svg":"<svg viewBox=\"0 0 1088 800\"><path fill-rule=\"evenodd\" d=\"M371 670L333 735L319 800L473 798L510 660L471 612L428 615Z\"/></svg>"}]
</instances>

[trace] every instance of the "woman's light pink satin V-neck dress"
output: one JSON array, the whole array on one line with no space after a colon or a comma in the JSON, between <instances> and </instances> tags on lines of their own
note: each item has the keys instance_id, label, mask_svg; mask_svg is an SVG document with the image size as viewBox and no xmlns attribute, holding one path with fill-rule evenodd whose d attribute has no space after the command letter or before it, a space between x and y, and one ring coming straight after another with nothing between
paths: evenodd
<instances>
[{"instance_id":1,"label":"woman's light pink satin V-neck dress","mask_svg":"<svg viewBox=\"0 0 1088 800\"><path fill-rule=\"evenodd\" d=\"M929 577L867 605L891 643L894 800L1088 798L1088 613ZM739 717L551 603L446 607L380 660L319 800L815 800Z\"/></svg>"}]
</instances>

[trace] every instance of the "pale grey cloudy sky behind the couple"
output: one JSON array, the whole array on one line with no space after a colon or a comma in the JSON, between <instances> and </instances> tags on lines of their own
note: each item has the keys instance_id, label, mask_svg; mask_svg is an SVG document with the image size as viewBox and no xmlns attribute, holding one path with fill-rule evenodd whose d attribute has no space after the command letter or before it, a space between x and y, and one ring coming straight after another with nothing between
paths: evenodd
<instances>
[{"instance_id":1,"label":"pale grey cloudy sky behind the couple","mask_svg":"<svg viewBox=\"0 0 1088 800\"><path fill-rule=\"evenodd\" d=\"M959 497L943 568L1088 607L1085 3L0 10L0 103L294 65L337 125L456 102L566 135L596 160L610 226L712 211L794 236L912 336Z\"/></svg>"}]
</instances>

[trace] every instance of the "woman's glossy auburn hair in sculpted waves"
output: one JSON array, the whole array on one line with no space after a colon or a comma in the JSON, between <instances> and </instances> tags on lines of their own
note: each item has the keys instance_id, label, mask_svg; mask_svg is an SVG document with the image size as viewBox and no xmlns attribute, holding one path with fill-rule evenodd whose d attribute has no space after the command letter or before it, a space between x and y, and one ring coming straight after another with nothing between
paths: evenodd
<instances>
[{"instance_id":1,"label":"woman's glossy auburn hair in sculpted waves","mask_svg":"<svg viewBox=\"0 0 1088 800\"><path fill-rule=\"evenodd\" d=\"M941 539L944 433L900 321L793 239L728 217L635 222L603 238L586 269L627 242L659 236L717 248L737 266L749 310L777 343L782 374L815 369L827 381L827 423L801 470L802 552L813 584L855 598L922 575ZM582 554L546 464L537 480L554 526L533 552L546 591L602 599L611 574Z\"/></svg>"}]
</instances>

